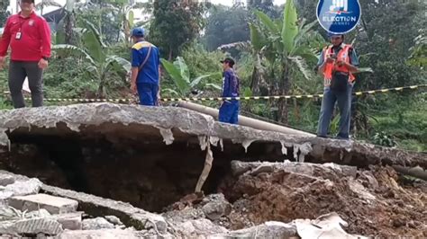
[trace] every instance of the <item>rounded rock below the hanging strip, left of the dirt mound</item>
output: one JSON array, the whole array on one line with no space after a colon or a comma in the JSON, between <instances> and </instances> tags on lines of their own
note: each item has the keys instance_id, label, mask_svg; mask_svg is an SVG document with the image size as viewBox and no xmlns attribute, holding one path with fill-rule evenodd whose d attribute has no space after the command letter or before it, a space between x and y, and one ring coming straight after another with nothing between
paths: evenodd
<instances>
[{"instance_id":1,"label":"rounded rock below the hanging strip, left of the dirt mound","mask_svg":"<svg viewBox=\"0 0 427 239\"><path fill-rule=\"evenodd\" d=\"M217 220L223 216L230 215L232 212L232 205L224 198L223 194L209 195L208 199L211 201L202 208L207 218Z\"/></svg>"}]
</instances>

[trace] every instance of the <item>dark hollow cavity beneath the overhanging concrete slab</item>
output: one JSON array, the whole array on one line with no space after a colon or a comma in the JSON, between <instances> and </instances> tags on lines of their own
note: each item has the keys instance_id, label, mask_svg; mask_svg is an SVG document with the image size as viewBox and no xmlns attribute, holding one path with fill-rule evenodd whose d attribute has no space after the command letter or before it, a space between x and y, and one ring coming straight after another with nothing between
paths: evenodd
<instances>
[{"instance_id":1,"label":"dark hollow cavity beneath the overhanging concrete slab","mask_svg":"<svg viewBox=\"0 0 427 239\"><path fill-rule=\"evenodd\" d=\"M36 177L46 184L121 200L151 212L195 191L204 168L206 151L199 138L179 129L166 145L159 128L148 125L104 123L72 131L55 128L15 128L7 131L10 146L0 155L0 169ZM280 143L253 142L245 152L241 144L224 140L212 146L213 166L204 194L216 192L230 176L232 160L294 161L293 148L282 154Z\"/></svg>"}]
</instances>

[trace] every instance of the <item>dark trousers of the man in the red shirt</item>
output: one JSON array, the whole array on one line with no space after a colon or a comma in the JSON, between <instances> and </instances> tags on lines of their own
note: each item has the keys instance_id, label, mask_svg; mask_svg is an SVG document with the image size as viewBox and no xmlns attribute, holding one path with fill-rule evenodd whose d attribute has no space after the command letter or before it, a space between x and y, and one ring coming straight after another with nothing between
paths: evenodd
<instances>
[{"instance_id":1,"label":"dark trousers of the man in the red shirt","mask_svg":"<svg viewBox=\"0 0 427 239\"><path fill-rule=\"evenodd\" d=\"M43 70L38 62L14 61L9 66L9 90L14 102L14 108L25 107L23 101L23 82L28 77L28 86L32 91L32 107L43 105Z\"/></svg>"}]
</instances>

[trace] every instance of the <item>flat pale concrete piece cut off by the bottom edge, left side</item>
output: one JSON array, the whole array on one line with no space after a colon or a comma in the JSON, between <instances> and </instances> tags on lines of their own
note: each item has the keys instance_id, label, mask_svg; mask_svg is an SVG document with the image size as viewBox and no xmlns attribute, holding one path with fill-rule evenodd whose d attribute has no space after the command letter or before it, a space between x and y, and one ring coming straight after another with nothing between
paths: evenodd
<instances>
[{"instance_id":1,"label":"flat pale concrete piece cut off by the bottom edge, left side","mask_svg":"<svg viewBox=\"0 0 427 239\"><path fill-rule=\"evenodd\" d=\"M55 239L136 239L142 238L132 230L103 229L85 231L65 231L55 237Z\"/></svg>"}]
</instances>

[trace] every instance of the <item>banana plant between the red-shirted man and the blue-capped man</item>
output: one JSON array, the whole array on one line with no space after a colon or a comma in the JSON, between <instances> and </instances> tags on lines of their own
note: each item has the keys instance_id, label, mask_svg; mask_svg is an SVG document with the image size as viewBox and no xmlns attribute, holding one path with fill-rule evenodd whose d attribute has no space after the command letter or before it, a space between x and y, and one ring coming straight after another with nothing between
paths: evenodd
<instances>
[{"instance_id":1,"label":"banana plant between the red-shirted man and the blue-capped man","mask_svg":"<svg viewBox=\"0 0 427 239\"><path fill-rule=\"evenodd\" d=\"M77 56L84 61L86 72L98 82L98 96L105 97L108 80L114 80L120 76L123 80L131 70L131 63L115 55L109 54L109 49L104 44L99 31L91 22L85 22L86 29L81 32L81 46L68 44L54 45L52 49L61 54Z\"/></svg>"}]
</instances>

